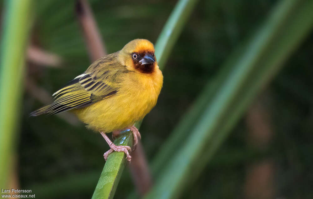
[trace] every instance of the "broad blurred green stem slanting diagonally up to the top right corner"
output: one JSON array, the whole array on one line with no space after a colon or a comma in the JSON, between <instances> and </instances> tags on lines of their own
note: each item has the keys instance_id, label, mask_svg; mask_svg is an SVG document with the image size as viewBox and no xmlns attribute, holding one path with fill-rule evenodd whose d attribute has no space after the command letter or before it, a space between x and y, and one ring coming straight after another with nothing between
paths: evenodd
<instances>
[{"instance_id":1,"label":"broad blurred green stem slanting diagonally up to the top right corner","mask_svg":"<svg viewBox=\"0 0 313 199\"><path fill-rule=\"evenodd\" d=\"M283 61L312 28L312 1L282 1L243 54L189 132L186 143L163 167L145 198L179 198L183 189L203 170L256 94L281 68ZM228 67L228 66L225 66Z\"/></svg>"}]
</instances>

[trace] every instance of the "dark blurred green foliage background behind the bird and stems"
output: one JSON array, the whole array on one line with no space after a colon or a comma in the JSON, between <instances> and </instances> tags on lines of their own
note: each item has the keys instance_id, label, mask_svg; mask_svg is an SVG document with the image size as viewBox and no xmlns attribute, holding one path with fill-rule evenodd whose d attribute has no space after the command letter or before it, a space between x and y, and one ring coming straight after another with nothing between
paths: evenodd
<instances>
[{"instance_id":1,"label":"dark blurred green foliage background behind the bird and stems","mask_svg":"<svg viewBox=\"0 0 313 199\"><path fill-rule=\"evenodd\" d=\"M134 38L155 42L177 1L89 2L106 50L112 53ZM27 62L17 173L20 187L33 189L38 198L90 198L109 148L100 134L71 117L28 117L43 105L29 82L52 94L90 64L74 3L35 1L32 8L30 44L62 58L60 67ZM206 82L276 3L199 1L162 71L157 106L141 126L148 161ZM313 197L312 46L310 33L182 198L256 198L260 190L263 198ZM133 189L126 169L115 198L125 198Z\"/></svg>"}]
</instances>

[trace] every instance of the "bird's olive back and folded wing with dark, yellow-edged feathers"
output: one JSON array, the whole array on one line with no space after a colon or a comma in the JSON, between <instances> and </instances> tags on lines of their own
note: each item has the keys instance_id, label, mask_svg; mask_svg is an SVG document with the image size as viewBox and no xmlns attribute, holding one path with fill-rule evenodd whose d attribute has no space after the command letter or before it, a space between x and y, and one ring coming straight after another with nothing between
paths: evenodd
<instances>
[{"instance_id":1,"label":"bird's olive back and folded wing with dark, yellow-edged feathers","mask_svg":"<svg viewBox=\"0 0 313 199\"><path fill-rule=\"evenodd\" d=\"M53 94L54 102L46 110L49 115L73 108L89 106L118 92L121 66L112 63L112 56L95 61L85 73L75 77Z\"/></svg>"}]
</instances>

